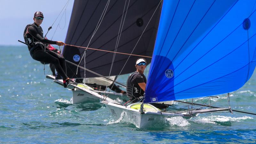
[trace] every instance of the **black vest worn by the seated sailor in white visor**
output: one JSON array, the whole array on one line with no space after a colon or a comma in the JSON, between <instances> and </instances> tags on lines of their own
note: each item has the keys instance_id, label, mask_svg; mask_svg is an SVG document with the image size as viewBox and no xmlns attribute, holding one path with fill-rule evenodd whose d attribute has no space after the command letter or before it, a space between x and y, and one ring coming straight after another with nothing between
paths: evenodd
<instances>
[{"instance_id":1,"label":"black vest worn by the seated sailor in white visor","mask_svg":"<svg viewBox=\"0 0 256 144\"><path fill-rule=\"evenodd\" d=\"M133 77L141 75L146 83L146 77L143 74L140 74L138 71L133 72L127 79L127 85L126 85L126 92L127 92L127 97L130 100L134 100L136 98L139 98L140 96L144 95L144 91L140 88L139 84L136 82L132 82Z\"/></svg>"}]
</instances>

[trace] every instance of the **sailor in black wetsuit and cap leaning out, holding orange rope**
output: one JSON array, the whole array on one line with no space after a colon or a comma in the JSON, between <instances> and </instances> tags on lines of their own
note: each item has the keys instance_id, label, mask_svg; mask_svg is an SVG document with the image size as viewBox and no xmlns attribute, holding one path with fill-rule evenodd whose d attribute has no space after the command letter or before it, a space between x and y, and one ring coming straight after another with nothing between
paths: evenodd
<instances>
[{"instance_id":1,"label":"sailor in black wetsuit and cap leaning out, holding orange rope","mask_svg":"<svg viewBox=\"0 0 256 144\"><path fill-rule=\"evenodd\" d=\"M27 25L23 33L31 57L40 62L52 63L58 74L62 77L64 87L67 87L69 83L77 84L66 75L67 68L65 59L55 52L46 49L45 44L57 44L62 46L65 43L61 41L51 41L43 37L43 29L40 27L43 19L44 15L42 12L35 12L33 18L34 23Z\"/></svg>"}]
</instances>

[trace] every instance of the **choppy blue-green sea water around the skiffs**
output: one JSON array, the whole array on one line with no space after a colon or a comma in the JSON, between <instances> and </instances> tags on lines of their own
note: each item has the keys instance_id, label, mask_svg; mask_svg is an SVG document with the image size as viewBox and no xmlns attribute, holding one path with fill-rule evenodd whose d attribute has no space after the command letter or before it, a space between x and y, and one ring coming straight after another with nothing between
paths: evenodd
<instances>
[{"instance_id":1,"label":"choppy blue-green sea water around the skiffs","mask_svg":"<svg viewBox=\"0 0 256 144\"><path fill-rule=\"evenodd\" d=\"M48 65L45 74L51 74ZM255 115L171 117L158 128L139 129L115 121L98 102L72 105L71 97L71 91L45 78L44 65L30 57L26 46L0 46L0 143L256 143ZM218 97L212 101L225 95ZM256 113L255 72L231 94L230 105Z\"/></svg>"}]
</instances>

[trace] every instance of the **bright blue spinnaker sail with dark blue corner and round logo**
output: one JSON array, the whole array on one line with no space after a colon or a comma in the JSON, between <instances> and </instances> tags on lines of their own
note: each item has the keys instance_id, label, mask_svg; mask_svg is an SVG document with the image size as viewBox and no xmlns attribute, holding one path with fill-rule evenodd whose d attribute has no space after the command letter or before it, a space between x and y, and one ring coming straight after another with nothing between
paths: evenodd
<instances>
[{"instance_id":1,"label":"bright blue spinnaker sail with dark blue corner and round logo","mask_svg":"<svg viewBox=\"0 0 256 144\"><path fill-rule=\"evenodd\" d=\"M164 1L145 103L232 92L256 65L256 1Z\"/></svg>"}]
</instances>

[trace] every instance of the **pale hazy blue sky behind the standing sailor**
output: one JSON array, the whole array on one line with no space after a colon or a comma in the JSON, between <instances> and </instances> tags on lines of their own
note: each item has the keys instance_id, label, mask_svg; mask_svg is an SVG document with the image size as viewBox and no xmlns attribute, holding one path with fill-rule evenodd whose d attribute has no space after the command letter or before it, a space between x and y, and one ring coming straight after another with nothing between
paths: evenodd
<instances>
[{"instance_id":1,"label":"pale hazy blue sky behind the standing sailor","mask_svg":"<svg viewBox=\"0 0 256 144\"><path fill-rule=\"evenodd\" d=\"M46 34L67 2L68 0L0 0L0 45L24 45L18 40L24 41L23 31L27 24L33 23L36 11L44 14L41 26ZM66 11L64 8L47 34L48 39L52 38L60 23L52 40L65 41L73 3L74 0L69 0Z\"/></svg>"}]
</instances>

